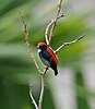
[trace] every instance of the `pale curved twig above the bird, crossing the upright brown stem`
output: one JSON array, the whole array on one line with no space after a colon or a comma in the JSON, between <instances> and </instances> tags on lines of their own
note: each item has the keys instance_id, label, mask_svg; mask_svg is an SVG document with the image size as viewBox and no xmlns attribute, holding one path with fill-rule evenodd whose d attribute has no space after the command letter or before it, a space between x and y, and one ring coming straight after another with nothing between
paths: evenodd
<instances>
[{"instance_id":1,"label":"pale curved twig above the bird, crossing the upright brown stem","mask_svg":"<svg viewBox=\"0 0 95 109\"><path fill-rule=\"evenodd\" d=\"M61 17L63 17L63 16L64 16L64 14L62 13L60 16L58 16L58 20L61 19ZM45 39L46 39L47 45L49 45L49 39L48 39L49 29L50 29L50 27L51 27L51 25L52 25L54 23L55 23L55 20L52 20L52 21L48 24L48 26L46 27L46 31L45 31Z\"/></svg>"}]
</instances>

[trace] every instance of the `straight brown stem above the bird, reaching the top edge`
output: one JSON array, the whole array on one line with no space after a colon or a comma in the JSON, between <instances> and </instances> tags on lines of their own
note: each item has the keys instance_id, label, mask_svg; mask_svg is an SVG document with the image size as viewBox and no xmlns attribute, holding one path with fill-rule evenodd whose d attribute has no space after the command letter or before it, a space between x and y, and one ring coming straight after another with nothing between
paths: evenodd
<instances>
[{"instance_id":1,"label":"straight brown stem above the bird, reaching the top edge","mask_svg":"<svg viewBox=\"0 0 95 109\"><path fill-rule=\"evenodd\" d=\"M61 10L61 3L62 3L62 0L60 0L59 2L59 5L58 5L58 10L57 10L57 13L56 13L56 16L55 16L55 23L50 29L50 35L49 35L49 45L50 45L50 40L51 40L51 37L54 35L54 31L55 31L55 26L57 24L57 20L58 20L58 16L59 16L59 13L60 13L60 10Z\"/></svg>"}]
</instances>

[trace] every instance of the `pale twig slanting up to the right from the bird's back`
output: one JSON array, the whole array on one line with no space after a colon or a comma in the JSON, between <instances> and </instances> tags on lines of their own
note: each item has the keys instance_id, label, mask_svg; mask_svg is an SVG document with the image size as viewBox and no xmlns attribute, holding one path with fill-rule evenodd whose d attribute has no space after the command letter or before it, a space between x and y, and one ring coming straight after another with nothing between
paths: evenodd
<instances>
[{"instance_id":1,"label":"pale twig slanting up to the right from the bird's back","mask_svg":"<svg viewBox=\"0 0 95 109\"><path fill-rule=\"evenodd\" d=\"M57 53L60 49L62 49L66 46L72 45L79 40L81 40L83 37L85 36L85 34L83 34L82 36L78 37L76 39L70 41L70 43L64 43L63 45L61 45L59 48L57 48L54 52Z\"/></svg>"}]
</instances>

